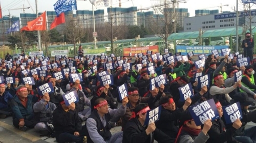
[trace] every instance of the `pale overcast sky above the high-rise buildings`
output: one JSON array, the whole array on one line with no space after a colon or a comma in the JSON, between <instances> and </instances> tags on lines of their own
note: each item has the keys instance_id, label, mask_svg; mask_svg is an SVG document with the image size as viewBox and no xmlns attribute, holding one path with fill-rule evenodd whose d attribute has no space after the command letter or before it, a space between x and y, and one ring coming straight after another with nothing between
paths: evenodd
<instances>
[{"instance_id":1,"label":"pale overcast sky above the high-rise buildings","mask_svg":"<svg viewBox=\"0 0 256 143\"><path fill-rule=\"evenodd\" d=\"M54 11L53 5L57 2L57 0L37 0L38 1L38 12L44 12L44 11ZM137 6L137 9L144 8L150 8L153 5L159 4L160 0L121 0L122 8L128 8L132 6ZM162 0L163 1L163 0ZM170 0L167 0L167 2ZM182 1L182 0L177 0ZM35 0L0 0L1 6L2 6L2 13L3 16L8 15L8 9L16 9L16 8L23 8L23 5L25 7L32 7L32 9L35 11ZM30 5L29 5L29 3ZM239 0L239 10L243 10L243 6L241 4L241 0ZM186 3L179 3L179 8L187 8L188 12L190 13L190 16L195 16L195 10L197 9L209 9L209 10L215 10L219 9L218 6L222 5L229 5L223 7L223 11L233 11L232 9L236 6L236 0L186 0ZM118 7L119 1L113 0L113 7ZM87 1L79 1L77 2L78 10L92 10L91 3ZM26 9L25 13L33 13L32 9ZM101 7L97 9L104 9L105 15L106 7ZM256 6L253 6L253 9L256 9ZM147 11L153 11L152 9L149 9ZM11 10L10 14L14 16L19 16L20 13L23 13L23 10Z\"/></svg>"}]
</instances>

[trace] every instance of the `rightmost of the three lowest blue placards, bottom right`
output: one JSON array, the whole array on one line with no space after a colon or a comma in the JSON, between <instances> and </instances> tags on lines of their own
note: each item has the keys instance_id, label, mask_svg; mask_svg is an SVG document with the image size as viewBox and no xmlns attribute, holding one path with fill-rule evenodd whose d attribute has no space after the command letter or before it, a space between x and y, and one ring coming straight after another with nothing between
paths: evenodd
<instances>
[{"instance_id":1,"label":"rightmost of the three lowest blue placards, bottom right","mask_svg":"<svg viewBox=\"0 0 256 143\"><path fill-rule=\"evenodd\" d=\"M222 109L226 124L231 124L238 119L243 119L243 112L239 102L223 106Z\"/></svg>"}]
</instances>

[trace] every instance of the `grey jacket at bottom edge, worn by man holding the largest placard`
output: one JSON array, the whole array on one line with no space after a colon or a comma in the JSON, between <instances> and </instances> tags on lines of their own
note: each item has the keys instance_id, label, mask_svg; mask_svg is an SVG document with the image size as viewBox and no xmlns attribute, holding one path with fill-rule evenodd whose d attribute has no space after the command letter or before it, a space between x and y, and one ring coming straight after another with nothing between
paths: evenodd
<instances>
[{"instance_id":1,"label":"grey jacket at bottom edge, worn by man holding the largest placard","mask_svg":"<svg viewBox=\"0 0 256 143\"><path fill-rule=\"evenodd\" d=\"M189 135L183 135L180 137L179 143L205 143L207 139L209 138L208 134L204 134L202 131L199 133L199 135L193 140L191 136Z\"/></svg>"}]
</instances>

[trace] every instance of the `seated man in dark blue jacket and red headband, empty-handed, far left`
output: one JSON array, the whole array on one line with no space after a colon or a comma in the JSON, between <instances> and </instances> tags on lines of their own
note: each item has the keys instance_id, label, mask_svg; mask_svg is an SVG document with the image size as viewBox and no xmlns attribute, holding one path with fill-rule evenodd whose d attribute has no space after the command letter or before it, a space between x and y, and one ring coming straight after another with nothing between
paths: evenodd
<instances>
[{"instance_id":1,"label":"seated man in dark blue jacket and red headband, empty-handed, far left","mask_svg":"<svg viewBox=\"0 0 256 143\"><path fill-rule=\"evenodd\" d=\"M27 127L34 128L32 100L36 96L28 95L25 85L19 85L17 93L11 100L11 108L13 111L12 122L14 127L22 131L26 131Z\"/></svg>"}]
</instances>

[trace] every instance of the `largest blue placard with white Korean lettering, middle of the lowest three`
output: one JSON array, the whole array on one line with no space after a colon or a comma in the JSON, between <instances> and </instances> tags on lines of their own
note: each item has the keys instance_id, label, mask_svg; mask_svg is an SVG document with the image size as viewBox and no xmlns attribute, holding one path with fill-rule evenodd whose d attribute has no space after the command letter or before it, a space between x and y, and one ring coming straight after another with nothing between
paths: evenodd
<instances>
[{"instance_id":1,"label":"largest blue placard with white Korean lettering, middle of the lowest three","mask_svg":"<svg viewBox=\"0 0 256 143\"><path fill-rule=\"evenodd\" d=\"M188 110L197 126L203 125L208 119L214 121L220 117L214 99L204 101L198 105L192 105Z\"/></svg>"}]
</instances>

